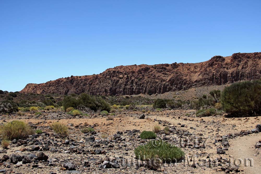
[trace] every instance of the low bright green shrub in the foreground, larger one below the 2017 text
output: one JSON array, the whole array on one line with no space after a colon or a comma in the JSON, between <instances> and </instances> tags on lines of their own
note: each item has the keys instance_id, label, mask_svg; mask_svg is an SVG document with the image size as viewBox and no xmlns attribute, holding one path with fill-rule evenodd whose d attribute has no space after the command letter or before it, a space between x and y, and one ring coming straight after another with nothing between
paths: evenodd
<instances>
[{"instance_id":1,"label":"low bright green shrub in the foreground, larger one below the 2017 text","mask_svg":"<svg viewBox=\"0 0 261 174\"><path fill-rule=\"evenodd\" d=\"M161 144L159 147L155 144ZM174 145L169 144L168 142L156 142L150 141L146 145L140 145L135 148L134 153L137 159L147 160L147 159L155 159L159 158L162 161L166 161L167 163L175 163L175 160L182 160L185 153L181 148L176 147Z\"/></svg>"}]
</instances>

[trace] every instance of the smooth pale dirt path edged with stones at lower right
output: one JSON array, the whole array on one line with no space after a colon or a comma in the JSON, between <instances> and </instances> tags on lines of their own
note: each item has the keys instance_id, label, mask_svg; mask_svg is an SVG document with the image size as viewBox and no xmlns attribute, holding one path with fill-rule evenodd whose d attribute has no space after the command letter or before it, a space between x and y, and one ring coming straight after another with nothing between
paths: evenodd
<instances>
[{"instance_id":1,"label":"smooth pale dirt path edged with stones at lower right","mask_svg":"<svg viewBox=\"0 0 261 174\"><path fill-rule=\"evenodd\" d=\"M229 144L229 155L233 155L234 159L241 158L244 161L244 164L239 167L240 170L244 170L242 173L246 174L256 174L261 171L261 154L257 154L254 151L254 145L258 140L261 139L261 134L251 134L249 136L242 136L236 139L230 140ZM245 158L253 159L253 166L245 166ZM241 172L240 172L241 173Z\"/></svg>"}]
</instances>

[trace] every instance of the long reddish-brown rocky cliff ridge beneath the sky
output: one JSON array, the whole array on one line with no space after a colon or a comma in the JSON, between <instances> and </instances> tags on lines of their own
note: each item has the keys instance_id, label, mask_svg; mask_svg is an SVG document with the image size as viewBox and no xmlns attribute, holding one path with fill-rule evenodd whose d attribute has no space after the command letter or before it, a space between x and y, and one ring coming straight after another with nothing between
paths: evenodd
<instances>
[{"instance_id":1,"label":"long reddish-brown rocky cliff ridge beneath the sky","mask_svg":"<svg viewBox=\"0 0 261 174\"><path fill-rule=\"evenodd\" d=\"M201 63L118 66L98 75L29 83L21 93L155 94L260 77L261 52L235 53L228 57L214 56Z\"/></svg>"}]
</instances>

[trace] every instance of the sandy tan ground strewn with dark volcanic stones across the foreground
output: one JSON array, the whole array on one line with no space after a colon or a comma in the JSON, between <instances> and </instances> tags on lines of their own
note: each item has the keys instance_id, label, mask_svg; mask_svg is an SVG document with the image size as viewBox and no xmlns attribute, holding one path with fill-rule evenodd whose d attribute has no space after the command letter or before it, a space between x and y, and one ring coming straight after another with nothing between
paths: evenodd
<instances>
[{"instance_id":1,"label":"sandy tan ground strewn with dark volcanic stones across the foreground","mask_svg":"<svg viewBox=\"0 0 261 174\"><path fill-rule=\"evenodd\" d=\"M206 88L197 88L193 91L205 90ZM189 91L184 93L191 95ZM17 97L20 95L24 96L19 94ZM165 96L172 95L165 94ZM153 98L153 95L147 97ZM107 116L102 116L99 112L86 112L86 115L73 116L57 109L27 111L23 112L24 115L2 114L1 124L18 119L43 132L29 136L25 140L12 141L8 149L1 149L0 171L2 173L259 173L261 154L260 148L255 148L255 144L261 139L261 133L253 129L261 123L260 116L236 118L221 113L197 117L195 111L192 109L157 111L149 105L142 109L136 106L135 110L114 110L112 120L107 120ZM36 112L41 114L35 115ZM143 114L145 117L140 118ZM67 125L69 131L67 138L59 137L52 130L51 125L54 122ZM125 161L135 161L134 149L152 141L141 139L141 132L151 131L156 125L161 127L157 139L180 147L185 152L185 164L183 159L175 166L165 164L157 170L137 166L136 163L124 166L123 158ZM170 128L169 134L163 131L166 126ZM81 130L86 127L91 127L94 131L82 133ZM198 140L196 146L194 140ZM16 155L18 157L20 155L23 159L14 162ZM193 161L189 161L188 164L188 157L195 159L194 166ZM242 158L244 163L246 158L252 158L253 167L245 167L244 164L235 167L236 158ZM209 161L209 159L216 160L217 166L214 163L213 166L209 166L209 162L202 165L204 163L200 160ZM229 160L233 161L230 166ZM225 164L226 161L228 164Z\"/></svg>"}]
</instances>

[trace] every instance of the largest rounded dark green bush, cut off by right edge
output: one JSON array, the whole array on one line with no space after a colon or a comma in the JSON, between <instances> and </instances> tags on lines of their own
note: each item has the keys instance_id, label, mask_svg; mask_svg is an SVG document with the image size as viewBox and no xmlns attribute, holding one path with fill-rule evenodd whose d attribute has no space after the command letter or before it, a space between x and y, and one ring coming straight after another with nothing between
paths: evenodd
<instances>
[{"instance_id":1,"label":"largest rounded dark green bush, cut off by right edge","mask_svg":"<svg viewBox=\"0 0 261 174\"><path fill-rule=\"evenodd\" d=\"M224 111L235 115L261 113L261 80L236 82L221 94Z\"/></svg>"}]
</instances>

